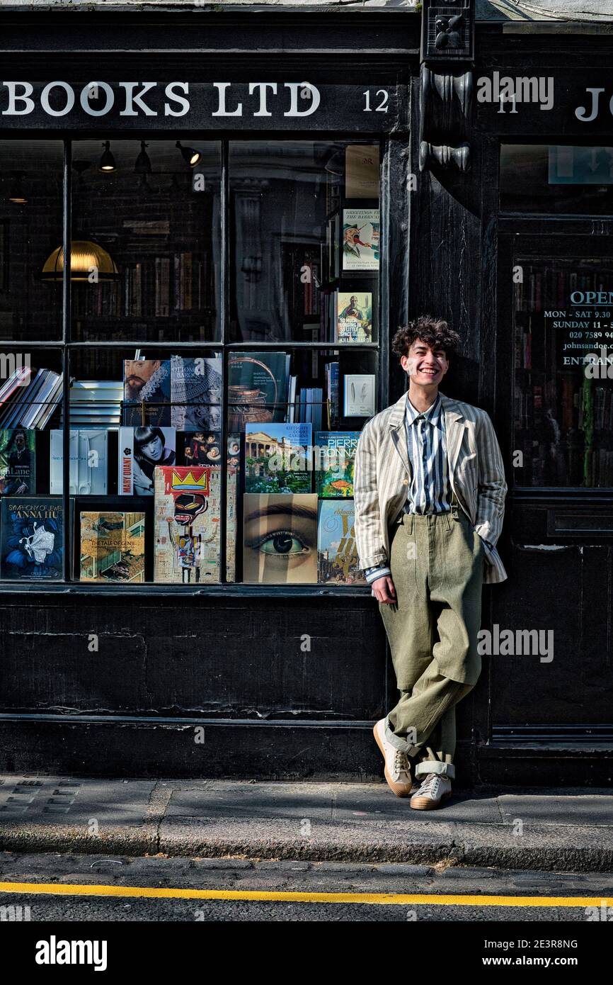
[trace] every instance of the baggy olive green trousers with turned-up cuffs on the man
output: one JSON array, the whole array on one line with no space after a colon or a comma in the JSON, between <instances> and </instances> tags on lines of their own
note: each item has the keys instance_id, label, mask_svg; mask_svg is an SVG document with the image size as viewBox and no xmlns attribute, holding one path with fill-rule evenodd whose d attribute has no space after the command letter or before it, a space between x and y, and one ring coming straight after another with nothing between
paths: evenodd
<instances>
[{"instance_id":1,"label":"baggy olive green trousers with turned-up cuffs on the man","mask_svg":"<svg viewBox=\"0 0 613 985\"><path fill-rule=\"evenodd\" d=\"M396 603L379 603L400 697L386 738L415 775L456 776L456 705L481 672L477 633L485 548L468 517L403 513L391 531Z\"/></svg>"}]
</instances>

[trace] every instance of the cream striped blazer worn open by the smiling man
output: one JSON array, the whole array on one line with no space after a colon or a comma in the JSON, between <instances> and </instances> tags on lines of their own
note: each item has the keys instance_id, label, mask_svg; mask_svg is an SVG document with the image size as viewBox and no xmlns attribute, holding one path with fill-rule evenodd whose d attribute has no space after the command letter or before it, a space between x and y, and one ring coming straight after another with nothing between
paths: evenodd
<instances>
[{"instance_id":1,"label":"cream striped blazer worn open by the smiling man","mask_svg":"<svg viewBox=\"0 0 613 985\"><path fill-rule=\"evenodd\" d=\"M508 577L496 550L505 515L507 483L498 439L478 407L446 397L447 460L453 491L484 542L484 582ZM362 569L390 561L389 527L406 501L412 473L406 450L406 394L364 426L355 453L355 540ZM489 544L485 543L489 541ZM491 547L490 547L491 545Z\"/></svg>"}]
</instances>

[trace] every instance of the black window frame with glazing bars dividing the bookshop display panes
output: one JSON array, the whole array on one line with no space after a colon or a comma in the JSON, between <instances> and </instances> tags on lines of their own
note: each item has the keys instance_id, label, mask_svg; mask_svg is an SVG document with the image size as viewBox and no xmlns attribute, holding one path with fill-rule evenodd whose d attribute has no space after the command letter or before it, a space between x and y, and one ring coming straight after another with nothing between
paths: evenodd
<instances>
[{"instance_id":1,"label":"black window frame with glazing bars dividing the bookshop display panes","mask_svg":"<svg viewBox=\"0 0 613 985\"><path fill-rule=\"evenodd\" d=\"M42 134L40 134L42 137ZM138 142L140 140L169 140L176 137L176 132L159 129L141 131L135 130L128 133L115 134L115 138L130 139ZM32 341L25 343L23 340L4 341L2 345L7 351L16 348L28 348L37 351L55 351L61 353L63 377L63 407L69 407L70 399L70 377L68 368L70 366L70 355L86 347L91 348L92 342L76 342L71 339L71 281L70 281L70 238L72 230L72 144L83 139L106 139L103 130L85 131L45 131L44 139L57 139L63 142L63 173L62 173L62 246L66 262L64 264L62 280L62 305L61 305L61 335L56 340L44 342ZM35 142L36 133L28 131L13 132L4 134L3 139L16 141L31 140ZM407 195L398 196L398 183L402 186L406 183L406 160L410 160L410 135L408 128L393 133L382 133L381 131L351 131L330 133L324 130L304 130L291 131L271 130L258 131L257 133L248 131L228 132L222 131L194 131L182 132L180 139L184 142L190 140L206 140L219 142L221 145L221 186L220 186L220 285L219 297L221 305L220 313L220 338L218 341L197 342L154 342L139 343L138 340L122 340L118 342L102 342L101 349L126 349L131 346L139 346L147 349L167 350L170 354L173 350L180 352L181 349L189 351L198 346L221 352L223 358L223 407L227 408L227 354L253 349L254 346L277 351L291 351L297 348L308 348L311 350L329 351L332 349L353 349L356 348L372 351L378 358L377 368L377 412L388 406L390 392L390 361L389 361L389 339L391 326L394 328L401 322L405 314L408 296L408 234L409 228L409 200ZM261 342L231 342L229 341L229 313L230 313L230 229L229 229L229 145L234 142L271 140L282 141L342 141L363 143L379 143L381 147L380 162L380 210L381 210L381 239L383 244L382 261L379 277L379 332L377 342L372 343L331 343L331 342L292 342L283 343L261 343ZM394 202L391 201L394 195ZM393 265L390 260L393 257ZM393 270L392 270L393 266ZM391 276L392 272L394 277ZM399 276L398 276L399 274ZM395 312L392 316L391 312ZM227 340L227 341L226 341ZM266 584L243 584L242 582L225 581L225 558L226 558L226 494L227 494L227 470L221 468L221 510L219 523L220 536L220 580L207 587L196 587L191 585L167 584L155 582L144 582L140 584L128 584L121 586L111 586L105 584L92 584L92 582L80 582L70 580L70 558L73 552L74 530L71 526L71 498L70 494L70 458L69 441L70 427L66 427L68 418L64 415L63 427L63 511L64 511L64 579L61 582L40 584L27 581L13 582L11 580L0 580L0 594L14 594L21 592L35 593L63 593L63 594L83 594L91 596L121 596L121 595L140 595L140 596L169 596L178 597L180 595L195 596L246 596L246 597L330 597L351 598L364 597L371 594L370 586L347 585L347 586L327 586L324 584L312 585L276 585ZM227 438L227 414L222 416L222 447L226 446ZM242 543L242 532L236 532L236 551L240 549Z\"/></svg>"}]
</instances>

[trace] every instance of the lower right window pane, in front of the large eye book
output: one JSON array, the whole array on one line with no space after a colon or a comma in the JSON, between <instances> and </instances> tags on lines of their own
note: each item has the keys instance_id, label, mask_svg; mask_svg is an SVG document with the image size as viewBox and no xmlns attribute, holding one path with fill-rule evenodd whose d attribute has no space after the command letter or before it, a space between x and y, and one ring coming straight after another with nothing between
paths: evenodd
<instances>
[{"instance_id":1,"label":"lower right window pane, in front of the large eye book","mask_svg":"<svg viewBox=\"0 0 613 985\"><path fill-rule=\"evenodd\" d=\"M241 349L227 361L228 450L238 470L232 488L242 534L237 580L364 584L353 463L360 429L378 407L377 353Z\"/></svg>"}]
</instances>

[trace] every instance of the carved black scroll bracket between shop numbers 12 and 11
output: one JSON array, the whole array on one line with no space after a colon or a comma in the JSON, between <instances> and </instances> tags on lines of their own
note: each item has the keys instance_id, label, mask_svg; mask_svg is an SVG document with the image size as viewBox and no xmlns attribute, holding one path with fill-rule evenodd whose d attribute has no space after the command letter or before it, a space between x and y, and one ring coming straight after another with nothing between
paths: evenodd
<instances>
[{"instance_id":1,"label":"carved black scroll bracket between shop numbers 12 and 11","mask_svg":"<svg viewBox=\"0 0 613 985\"><path fill-rule=\"evenodd\" d=\"M470 166L474 0L424 0L419 79L419 168ZM463 65L462 65L463 63ZM462 70L463 69L463 70Z\"/></svg>"}]
</instances>

